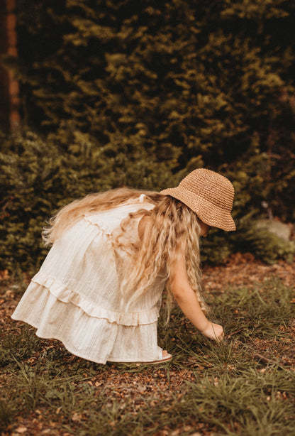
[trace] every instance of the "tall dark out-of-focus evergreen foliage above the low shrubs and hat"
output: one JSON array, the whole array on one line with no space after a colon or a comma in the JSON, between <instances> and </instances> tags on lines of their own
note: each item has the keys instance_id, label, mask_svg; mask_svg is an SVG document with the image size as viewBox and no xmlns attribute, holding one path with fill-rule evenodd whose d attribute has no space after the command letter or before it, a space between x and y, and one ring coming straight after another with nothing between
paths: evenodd
<instances>
[{"instance_id":1,"label":"tall dark out-of-focus evergreen foliage above the low shrubs and hat","mask_svg":"<svg viewBox=\"0 0 295 436\"><path fill-rule=\"evenodd\" d=\"M265 201L294 220L294 14L283 0L19 0L26 121L118 165L139 148L174 180L218 170L237 216Z\"/></svg>"}]
</instances>

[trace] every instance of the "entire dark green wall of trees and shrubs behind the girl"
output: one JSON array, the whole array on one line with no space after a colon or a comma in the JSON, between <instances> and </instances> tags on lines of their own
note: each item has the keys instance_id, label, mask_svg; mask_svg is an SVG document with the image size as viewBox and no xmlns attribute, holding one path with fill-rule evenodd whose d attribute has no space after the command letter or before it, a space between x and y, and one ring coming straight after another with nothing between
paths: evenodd
<instances>
[{"instance_id":1,"label":"entire dark green wall of trees and shrubs behind the girl","mask_svg":"<svg viewBox=\"0 0 295 436\"><path fill-rule=\"evenodd\" d=\"M194 168L235 186L235 234L204 261L294 244L255 219L294 222L294 1L18 0L23 127L0 142L1 268L36 268L40 229L74 198L160 190ZM1 269L0 268L0 269Z\"/></svg>"}]
</instances>

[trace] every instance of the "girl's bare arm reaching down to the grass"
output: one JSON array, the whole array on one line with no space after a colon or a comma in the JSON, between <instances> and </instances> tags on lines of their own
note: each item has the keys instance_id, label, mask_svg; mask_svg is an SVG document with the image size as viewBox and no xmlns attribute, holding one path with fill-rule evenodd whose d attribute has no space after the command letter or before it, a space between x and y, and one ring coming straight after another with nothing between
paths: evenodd
<instances>
[{"instance_id":1,"label":"girl's bare arm reaching down to the grass","mask_svg":"<svg viewBox=\"0 0 295 436\"><path fill-rule=\"evenodd\" d=\"M196 298L194 290L189 285L187 278L187 268L183 255L177 256L174 268L170 277L171 290L179 307L184 312L193 325L199 329L206 337L220 340L223 337L221 325L210 322L201 310L200 303Z\"/></svg>"}]
</instances>

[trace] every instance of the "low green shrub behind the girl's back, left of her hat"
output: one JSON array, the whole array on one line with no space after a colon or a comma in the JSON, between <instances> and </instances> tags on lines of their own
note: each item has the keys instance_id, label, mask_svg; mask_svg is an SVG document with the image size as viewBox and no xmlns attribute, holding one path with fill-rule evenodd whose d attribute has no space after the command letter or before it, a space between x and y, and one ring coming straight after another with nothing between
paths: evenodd
<instances>
[{"instance_id":1,"label":"low green shrub behind the girl's back, left of her hat","mask_svg":"<svg viewBox=\"0 0 295 436\"><path fill-rule=\"evenodd\" d=\"M119 146L110 156L86 135L74 139L65 150L32 132L1 136L0 270L39 266L45 220L72 200L123 185L160 190L171 178L169 164L155 162L140 144L128 158Z\"/></svg>"}]
</instances>

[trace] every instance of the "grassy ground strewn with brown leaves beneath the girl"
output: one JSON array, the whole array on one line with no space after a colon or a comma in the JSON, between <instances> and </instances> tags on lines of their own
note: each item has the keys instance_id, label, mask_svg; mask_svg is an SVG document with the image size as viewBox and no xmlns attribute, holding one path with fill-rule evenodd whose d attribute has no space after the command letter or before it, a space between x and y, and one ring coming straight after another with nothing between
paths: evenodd
<instances>
[{"instance_id":1,"label":"grassy ground strewn with brown leaves beneath the girl","mask_svg":"<svg viewBox=\"0 0 295 436\"><path fill-rule=\"evenodd\" d=\"M174 307L159 337L174 359L161 366L94 364L39 339L10 320L28 278L1 274L1 436L295 434L295 263L236 255L204 268L226 340Z\"/></svg>"}]
</instances>

